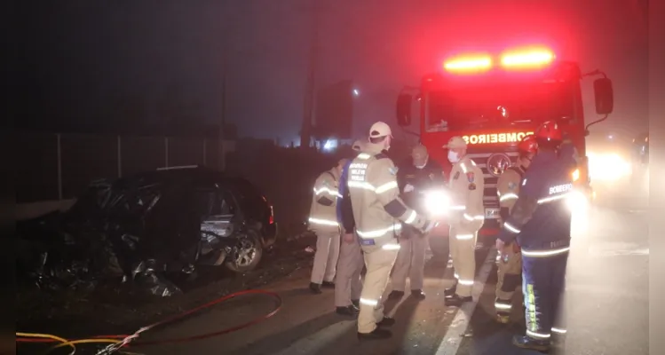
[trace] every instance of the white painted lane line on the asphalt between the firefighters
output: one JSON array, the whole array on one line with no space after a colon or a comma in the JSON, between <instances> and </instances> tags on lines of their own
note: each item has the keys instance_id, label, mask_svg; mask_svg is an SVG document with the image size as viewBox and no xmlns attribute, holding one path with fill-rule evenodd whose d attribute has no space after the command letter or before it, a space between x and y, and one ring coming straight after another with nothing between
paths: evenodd
<instances>
[{"instance_id":1,"label":"white painted lane line on the asphalt between the firefighters","mask_svg":"<svg viewBox=\"0 0 665 355\"><path fill-rule=\"evenodd\" d=\"M447 329L446 336L444 336L439 344L439 349L437 349L436 355L455 355L457 353L457 349L459 349L463 335L466 332L467 327L469 327L469 321L471 320L473 311L476 309L480 294L482 294L483 289L485 288L485 282L487 281L489 272L492 271L492 266L495 264L495 260L496 249L492 248L487 253L485 262L478 273L478 279L473 284L473 290L471 291L473 301L463 304L457 311L455 319L453 319L453 322L450 323L450 327Z\"/></svg>"}]
</instances>

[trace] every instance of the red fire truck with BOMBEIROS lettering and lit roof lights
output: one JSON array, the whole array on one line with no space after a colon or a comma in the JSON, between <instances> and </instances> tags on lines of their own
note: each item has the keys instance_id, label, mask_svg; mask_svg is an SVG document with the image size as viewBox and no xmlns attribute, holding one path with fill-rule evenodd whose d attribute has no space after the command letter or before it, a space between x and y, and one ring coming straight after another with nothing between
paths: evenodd
<instances>
[{"instance_id":1,"label":"red fire truck with BOMBEIROS lettering and lit roof lights","mask_svg":"<svg viewBox=\"0 0 665 355\"><path fill-rule=\"evenodd\" d=\"M596 113L604 117L585 125L581 82L595 75L602 76L593 82ZM439 71L424 75L418 87L405 87L400 93L397 118L403 129L412 123L414 97L420 141L446 176L451 164L442 146L454 136L467 142L468 156L483 170L485 224L479 231L479 247L492 245L499 231L499 175L517 160L519 140L542 122L562 125L579 157L578 170L571 174L577 187L590 196L585 137L591 124L606 120L614 109L612 82L604 73L582 74L577 63L558 59L544 46L458 54L447 58ZM446 253L447 229L439 225L432 233L433 254Z\"/></svg>"}]
</instances>

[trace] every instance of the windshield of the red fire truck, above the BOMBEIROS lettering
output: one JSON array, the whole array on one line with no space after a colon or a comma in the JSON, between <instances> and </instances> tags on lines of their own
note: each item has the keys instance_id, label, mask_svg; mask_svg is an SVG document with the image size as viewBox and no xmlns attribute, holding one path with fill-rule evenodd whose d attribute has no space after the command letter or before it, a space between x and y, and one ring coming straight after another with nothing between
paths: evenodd
<instances>
[{"instance_id":1,"label":"windshield of the red fire truck, above the BOMBEIROS lettering","mask_svg":"<svg viewBox=\"0 0 665 355\"><path fill-rule=\"evenodd\" d=\"M505 83L425 93L427 131L533 127L574 120L574 83Z\"/></svg>"}]
</instances>

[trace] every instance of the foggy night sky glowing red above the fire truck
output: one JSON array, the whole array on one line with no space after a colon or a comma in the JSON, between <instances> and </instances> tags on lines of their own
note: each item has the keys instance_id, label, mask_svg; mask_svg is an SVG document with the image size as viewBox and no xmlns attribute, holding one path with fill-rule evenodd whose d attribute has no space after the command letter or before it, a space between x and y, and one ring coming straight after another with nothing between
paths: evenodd
<instances>
[{"instance_id":1,"label":"foggy night sky glowing red above the fire truck","mask_svg":"<svg viewBox=\"0 0 665 355\"><path fill-rule=\"evenodd\" d=\"M641 0L44 2L18 13L25 19L18 79L28 100L20 117L45 120L36 107L56 107L48 108L48 119L94 121L113 98L139 95L147 100L146 120L158 122L154 102L178 86L202 103L207 122L218 122L226 52L228 121L241 136L295 140L314 3L323 9L316 81L356 83L357 135L376 120L396 126L401 87L438 70L449 51L520 41L551 44L582 70L606 71L615 96L606 128L646 127Z\"/></svg>"}]
</instances>

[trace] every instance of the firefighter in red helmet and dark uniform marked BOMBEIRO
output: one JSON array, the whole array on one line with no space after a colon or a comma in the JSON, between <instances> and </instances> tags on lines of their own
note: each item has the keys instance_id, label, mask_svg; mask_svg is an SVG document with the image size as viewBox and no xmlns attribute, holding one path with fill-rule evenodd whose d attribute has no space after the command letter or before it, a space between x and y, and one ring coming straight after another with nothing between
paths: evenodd
<instances>
[{"instance_id":1,"label":"firefighter in red helmet and dark uniform marked BOMBEIRO","mask_svg":"<svg viewBox=\"0 0 665 355\"><path fill-rule=\"evenodd\" d=\"M572 150L559 149L563 134L558 123L544 122L534 134L538 154L524 174L496 248L502 250L516 239L521 247L526 335L515 335L512 343L549 351L551 336L566 333L559 311L570 249L571 211L566 197L573 190L575 161Z\"/></svg>"}]
</instances>

